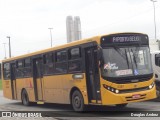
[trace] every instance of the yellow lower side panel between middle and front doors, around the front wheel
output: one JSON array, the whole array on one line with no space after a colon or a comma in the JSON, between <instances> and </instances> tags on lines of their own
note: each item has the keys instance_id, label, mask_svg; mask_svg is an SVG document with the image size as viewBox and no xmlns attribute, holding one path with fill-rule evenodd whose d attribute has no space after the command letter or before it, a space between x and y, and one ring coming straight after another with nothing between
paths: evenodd
<instances>
[{"instance_id":1,"label":"yellow lower side panel between middle and front doors, around the front wheel","mask_svg":"<svg viewBox=\"0 0 160 120\"><path fill-rule=\"evenodd\" d=\"M73 74L44 76L44 100L51 103L70 103L70 92L73 87L78 88L85 103L88 103L85 74L83 79L73 79Z\"/></svg>"}]
</instances>

